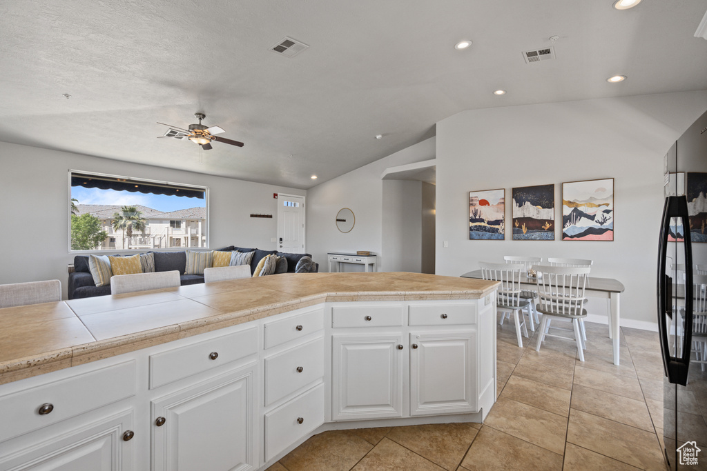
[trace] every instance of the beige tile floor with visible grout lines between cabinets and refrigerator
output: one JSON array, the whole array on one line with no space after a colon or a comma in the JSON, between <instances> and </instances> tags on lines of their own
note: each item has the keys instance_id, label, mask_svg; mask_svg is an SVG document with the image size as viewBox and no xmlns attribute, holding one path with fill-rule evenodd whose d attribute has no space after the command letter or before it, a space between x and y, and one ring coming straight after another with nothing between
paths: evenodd
<instances>
[{"instance_id":1,"label":"beige tile floor with visible grout lines between cabinets and refrigerator","mask_svg":"<svg viewBox=\"0 0 707 471\"><path fill-rule=\"evenodd\" d=\"M498 326L498 401L483 425L328 431L269 471L665 470L658 334L621 328L614 366L607 326L585 324L585 362L573 340L536 352L534 337L519 348L513 323Z\"/></svg>"}]
</instances>

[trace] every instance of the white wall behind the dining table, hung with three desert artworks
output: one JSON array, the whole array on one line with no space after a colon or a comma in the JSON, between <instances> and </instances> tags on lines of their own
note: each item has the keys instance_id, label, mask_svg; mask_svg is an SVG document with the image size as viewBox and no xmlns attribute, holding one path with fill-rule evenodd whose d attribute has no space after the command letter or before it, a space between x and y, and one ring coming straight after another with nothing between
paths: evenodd
<instances>
[{"instance_id":1,"label":"white wall behind the dining table, hung with three desert artworks","mask_svg":"<svg viewBox=\"0 0 707 471\"><path fill-rule=\"evenodd\" d=\"M436 273L458 276L504 255L592 258L592 275L617 278L621 321L655 323L655 265L663 156L707 109L707 90L469 110L437 124ZM614 242L469 240L469 191L614 177ZM508 225L507 225L508 227ZM449 242L448 248L443 243ZM590 302L604 314L605 303ZM624 321L629 321L627 324ZM642 324L645 322L646 324Z\"/></svg>"}]
</instances>

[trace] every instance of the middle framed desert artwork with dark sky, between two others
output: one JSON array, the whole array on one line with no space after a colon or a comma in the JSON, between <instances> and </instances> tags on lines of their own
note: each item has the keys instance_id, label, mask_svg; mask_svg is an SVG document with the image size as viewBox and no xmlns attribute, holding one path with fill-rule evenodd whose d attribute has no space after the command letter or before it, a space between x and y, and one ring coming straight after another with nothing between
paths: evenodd
<instances>
[{"instance_id":1,"label":"middle framed desert artwork with dark sky, between two others","mask_svg":"<svg viewBox=\"0 0 707 471\"><path fill-rule=\"evenodd\" d=\"M555 239L555 186L513 189L513 240Z\"/></svg>"}]
</instances>

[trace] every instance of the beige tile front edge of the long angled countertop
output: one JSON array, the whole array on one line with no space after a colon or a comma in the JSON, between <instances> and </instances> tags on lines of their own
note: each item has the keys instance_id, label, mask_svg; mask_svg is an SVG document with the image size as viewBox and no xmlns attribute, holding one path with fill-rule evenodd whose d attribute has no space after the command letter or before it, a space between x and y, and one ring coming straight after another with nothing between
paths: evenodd
<instances>
[{"instance_id":1,"label":"beige tile front edge of the long angled countertop","mask_svg":"<svg viewBox=\"0 0 707 471\"><path fill-rule=\"evenodd\" d=\"M404 274L395 273L396 278L405 278ZM435 276L435 275L429 275ZM442 278L442 277L439 277ZM451 277L448 277L451 278ZM284 302L265 304L251 309L239 311L222 312L216 316L197 318L191 321L183 321L170 326L153 328L140 332L130 333L106 340L82 343L71 347L65 347L50 352L41 352L23 358L11 359L0 362L0 384L18 381L69 368L79 364L95 362L99 359L114 357L119 354L134 352L153 345L160 345L172 342L180 338L187 338L192 335L218 330L241 323L257 321L262 318L274 316L287 311L293 311L308 306L315 306L324 302L363 302L363 301L414 301L425 299L477 299L485 297L496 290L498 282L491 283L486 289L462 289L451 287L449 290L363 290L358 292L354 287L351 291L344 292L321 292L317 294L306 294L296 299L288 299ZM270 287L272 289L272 287ZM78 316L77 316L78 317Z\"/></svg>"}]
</instances>

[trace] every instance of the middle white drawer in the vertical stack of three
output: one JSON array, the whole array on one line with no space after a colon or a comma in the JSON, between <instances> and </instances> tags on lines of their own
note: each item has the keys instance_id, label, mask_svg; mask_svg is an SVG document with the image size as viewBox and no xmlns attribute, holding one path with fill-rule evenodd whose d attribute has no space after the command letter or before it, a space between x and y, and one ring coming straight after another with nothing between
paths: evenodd
<instances>
[{"instance_id":1,"label":"middle white drawer in the vertical stack of three","mask_svg":"<svg viewBox=\"0 0 707 471\"><path fill-rule=\"evenodd\" d=\"M324 340L320 337L267 357L264 366L267 406L324 376Z\"/></svg>"}]
</instances>

